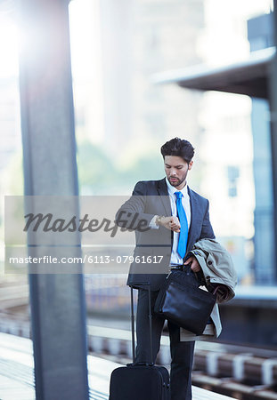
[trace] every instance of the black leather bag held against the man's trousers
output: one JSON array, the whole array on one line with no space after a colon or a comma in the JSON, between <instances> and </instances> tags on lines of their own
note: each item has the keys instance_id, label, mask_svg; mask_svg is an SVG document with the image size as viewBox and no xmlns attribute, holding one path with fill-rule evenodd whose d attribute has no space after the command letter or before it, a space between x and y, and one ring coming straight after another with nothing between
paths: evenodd
<instances>
[{"instance_id":1,"label":"black leather bag held against the man's trousers","mask_svg":"<svg viewBox=\"0 0 277 400\"><path fill-rule=\"evenodd\" d=\"M203 283L191 267L183 267L183 270L173 270L167 276L155 303L155 313L200 335L216 303L216 294L200 289Z\"/></svg>"}]
</instances>

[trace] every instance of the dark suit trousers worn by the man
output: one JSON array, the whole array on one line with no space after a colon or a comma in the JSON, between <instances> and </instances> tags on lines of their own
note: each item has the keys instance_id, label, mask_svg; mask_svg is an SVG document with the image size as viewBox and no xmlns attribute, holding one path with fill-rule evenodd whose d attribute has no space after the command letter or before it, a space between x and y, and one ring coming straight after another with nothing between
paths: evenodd
<instances>
[{"instance_id":1,"label":"dark suit trousers worn by the man","mask_svg":"<svg viewBox=\"0 0 277 400\"><path fill-rule=\"evenodd\" d=\"M160 336L165 319L154 315L154 304L159 292L151 292L152 314L152 351L153 361L156 361ZM194 341L180 341L180 328L168 321L170 338L171 370L170 394L171 400L191 400L191 369L193 362ZM136 362L150 362L150 328L148 291L139 289L136 311Z\"/></svg>"}]
</instances>

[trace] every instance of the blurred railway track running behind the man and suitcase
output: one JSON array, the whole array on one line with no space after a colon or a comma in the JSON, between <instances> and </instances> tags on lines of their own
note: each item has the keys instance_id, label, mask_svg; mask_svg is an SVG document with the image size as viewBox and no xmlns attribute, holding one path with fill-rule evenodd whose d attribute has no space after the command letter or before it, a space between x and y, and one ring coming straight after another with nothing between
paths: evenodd
<instances>
[{"instance_id":1,"label":"blurred railway track running behind the man and suitcase","mask_svg":"<svg viewBox=\"0 0 277 400\"><path fill-rule=\"evenodd\" d=\"M29 323L26 321L4 318L0 322L0 332L30 338ZM87 333L91 354L118 364L130 362L132 344L129 330L88 324ZM161 338L157 363L169 368L167 335ZM197 341L192 383L241 400L277 400L277 350Z\"/></svg>"}]
</instances>

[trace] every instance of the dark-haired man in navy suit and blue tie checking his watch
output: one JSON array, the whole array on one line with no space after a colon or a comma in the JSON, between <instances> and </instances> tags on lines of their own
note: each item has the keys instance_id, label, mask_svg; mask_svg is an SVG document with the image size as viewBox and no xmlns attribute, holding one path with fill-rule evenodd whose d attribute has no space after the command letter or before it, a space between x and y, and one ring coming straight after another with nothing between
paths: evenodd
<instances>
[{"instance_id":1,"label":"dark-haired man in navy suit and blue tie checking his watch","mask_svg":"<svg viewBox=\"0 0 277 400\"><path fill-rule=\"evenodd\" d=\"M116 216L121 227L130 227L132 220L136 236L134 262L127 284L139 290L136 313L137 363L151 361L148 291L139 284L151 284L152 354L155 361L165 322L164 318L153 314L159 288L170 268L190 264L191 273L200 272L196 258L187 258L185 254L200 239L215 238L209 221L208 200L187 185L187 175L194 156L191 143L179 138L169 140L161 147L161 154L166 178L138 182L131 198L120 207ZM180 341L180 328L169 321L168 331L172 357L171 400L190 400L194 341Z\"/></svg>"}]
</instances>

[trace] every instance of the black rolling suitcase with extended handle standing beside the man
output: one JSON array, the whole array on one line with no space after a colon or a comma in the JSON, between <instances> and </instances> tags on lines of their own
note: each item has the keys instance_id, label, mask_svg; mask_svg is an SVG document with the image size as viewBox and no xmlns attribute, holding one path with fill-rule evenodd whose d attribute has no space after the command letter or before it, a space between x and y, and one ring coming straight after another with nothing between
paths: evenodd
<instances>
[{"instance_id":1,"label":"black rolling suitcase with extended handle standing beside the man","mask_svg":"<svg viewBox=\"0 0 277 400\"><path fill-rule=\"evenodd\" d=\"M145 284L142 284L144 286ZM151 330L151 293L149 293L149 322L151 363L134 364L134 296L131 286L132 352L133 363L118 367L110 375L110 400L169 400L167 368L153 363Z\"/></svg>"}]
</instances>

